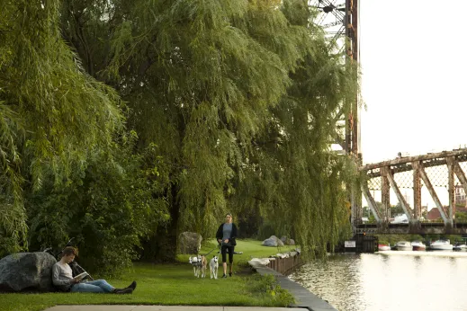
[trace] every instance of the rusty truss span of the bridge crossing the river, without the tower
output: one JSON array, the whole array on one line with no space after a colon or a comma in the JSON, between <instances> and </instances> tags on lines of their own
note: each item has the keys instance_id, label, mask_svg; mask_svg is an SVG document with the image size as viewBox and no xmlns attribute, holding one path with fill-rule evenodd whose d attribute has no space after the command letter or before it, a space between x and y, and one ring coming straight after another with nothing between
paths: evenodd
<instances>
[{"instance_id":1,"label":"rusty truss span of the bridge crossing the river, without the tower","mask_svg":"<svg viewBox=\"0 0 467 311\"><path fill-rule=\"evenodd\" d=\"M363 223L362 200L359 200L362 196L355 195L352 202L355 233L467 234L467 223L455 221L455 192L467 194L466 169L467 148L427 155L400 155L391 161L360 166L363 175L360 191L375 221L373 224ZM427 192L425 196L429 196L439 211L439 222L427 222L422 217L423 187ZM375 200L376 191L381 201ZM407 224L391 224L391 192L407 216ZM441 203L440 195L447 197L447 205Z\"/></svg>"}]
</instances>

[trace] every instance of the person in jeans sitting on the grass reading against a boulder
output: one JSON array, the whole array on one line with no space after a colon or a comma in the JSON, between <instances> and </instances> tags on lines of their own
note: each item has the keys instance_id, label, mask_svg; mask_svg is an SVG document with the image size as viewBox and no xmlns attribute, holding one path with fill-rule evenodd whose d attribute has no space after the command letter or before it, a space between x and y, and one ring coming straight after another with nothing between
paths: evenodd
<instances>
[{"instance_id":1,"label":"person in jeans sitting on the grass reading against a boulder","mask_svg":"<svg viewBox=\"0 0 467 311\"><path fill-rule=\"evenodd\" d=\"M62 252L62 257L59 262L52 267L52 281L58 289L71 292L85 293L114 293L114 294L131 294L136 289L136 281L130 284L125 289L115 289L106 280L92 280L79 282L73 279L73 273L69 262L73 262L77 256L77 249L72 246L67 246Z\"/></svg>"}]
</instances>

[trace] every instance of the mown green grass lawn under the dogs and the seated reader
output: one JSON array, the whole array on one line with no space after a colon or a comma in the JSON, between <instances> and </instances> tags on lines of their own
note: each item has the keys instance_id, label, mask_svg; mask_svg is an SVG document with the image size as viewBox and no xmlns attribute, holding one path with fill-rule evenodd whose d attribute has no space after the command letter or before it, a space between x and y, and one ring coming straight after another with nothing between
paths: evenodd
<instances>
[{"instance_id":1,"label":"mown green grass lawn under the dogs and the seated reader","mask_svg":"<svg viewBox=\"0 0 467 311\"><path fill-rule=\"evenodd\" d=\"M208 253L215 240L204 244L200 253ZM276 295L272 278L262 278L251 273L247 261L251 257L267 257L284 253L293 247L265 247L260 241L238 241L234 276L228 279L211 280L209 270L206 279L196 279L188 263L189 255L179 255L172 264L135 263L131 271L119 280L108 280L116 288L123 288L132 280L138 287L132 295L44 293L44 294L0 294L0 310L43 310L56 305L193 305L193 306L264 306L283 307L285 300ZM217 253L214 250L208 258ZM219 276L222 275L220 263ZM228 292L229 294L225 294Z\"/></svg>"}]
</instances>

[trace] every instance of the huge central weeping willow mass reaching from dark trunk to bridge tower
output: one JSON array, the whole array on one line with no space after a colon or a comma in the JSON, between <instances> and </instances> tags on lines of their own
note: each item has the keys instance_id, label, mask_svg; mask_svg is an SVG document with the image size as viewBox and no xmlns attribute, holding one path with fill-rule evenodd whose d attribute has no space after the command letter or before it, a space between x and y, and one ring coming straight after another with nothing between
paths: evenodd
<instances>
[{"instance_id":1,"label":"huge central weeping willow mass reaching from dark trunk to bridge tower","mask_svg":"<svg viewBox=\"0 0 467 311\"><path fill-rule=\"evenodd\" d=\"M329 146L354 69L306 1L67 0L61 18L85 70L128 102L139 147L157 145L168 235L212 236L253 207L320 253L348 228L352 169Z\"/></svg>"}]
</instances>

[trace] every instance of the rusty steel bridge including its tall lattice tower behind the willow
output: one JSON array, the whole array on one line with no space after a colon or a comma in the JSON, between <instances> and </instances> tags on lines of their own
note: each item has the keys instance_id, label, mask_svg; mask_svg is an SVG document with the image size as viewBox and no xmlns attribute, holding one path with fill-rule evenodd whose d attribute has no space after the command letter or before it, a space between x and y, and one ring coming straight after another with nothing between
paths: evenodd
<instances>
[{"instance_id":1,"label":"rusty steel bridge including its tall lattice tower behind the willow","mask_svg":"<svg viewBox=\"0 0 467 311\"><path fill-rule=\"evenodd\" d=\"M317 24L327 33L329 44L340 47L346 62L360 62L359 49L359 0L310 0L309 4L319 13ZM362 163L360 148L360 99L349 98L351 109L347 115L339 114L337 128L344 123L345 130L337 134L336 143L346 155ZM353 189L351 222L355 234L418 233L418 234L467 234L467 224L455 220L454 191L467 194L467 148L441 153L403 156L391 161L360 165L363 175L361 189ZM425 187L425 188L424 188ZM412 192L410 201L400 189ZM440 190L441 189L441 190ZM441 222L427 222L422 218L423 198L431 198L439 211ZM447 193L446 193L447 190ZM374 194L381 193L380 201ZM373 192L373 194L372 194ZM397 197L407 224L391 224L391 192ZM448 197L444 206L441 196ZM362 221L362 197L367 201L375 222ZM444 200L445 201L445 200ZM465 206L467 208L467 206Z\"/></svg>"}]
</instances>

